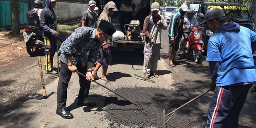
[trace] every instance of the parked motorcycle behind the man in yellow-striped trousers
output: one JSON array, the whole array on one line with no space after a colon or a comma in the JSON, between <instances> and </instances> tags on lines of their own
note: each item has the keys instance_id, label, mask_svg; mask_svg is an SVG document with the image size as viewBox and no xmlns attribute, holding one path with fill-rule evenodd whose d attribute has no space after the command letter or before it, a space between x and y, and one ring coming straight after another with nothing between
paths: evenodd
<instances>
[{"instance_id":1,"label":"parked motorcycle behind the man in yellow-striped trousers","mask_svg":"<svg viewBox=\"0 0 256 128\"><path fill-rule=\"evenodd\" d=\"M24 26L25 32L22 36L26 43L27 53L31 56L39 54L39 49L45 46L44 39L42 37L42 29L35 26Z\"/></svg>"}]
</instances>

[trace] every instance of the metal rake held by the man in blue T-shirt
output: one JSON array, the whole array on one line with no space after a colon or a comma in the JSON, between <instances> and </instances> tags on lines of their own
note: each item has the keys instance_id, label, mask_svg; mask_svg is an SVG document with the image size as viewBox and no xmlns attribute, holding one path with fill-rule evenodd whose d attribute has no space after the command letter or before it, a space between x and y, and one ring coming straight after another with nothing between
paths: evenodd
<instances>
[{"instance_id":1,"label":"metal rake held by the man in blue T-shirt","mask_svg":"<svg viewBox=\"0 0 256 128\"><path fill-rule=\"evenodd\" d=\"M174 112L175 112L175 111L181 109L182 107L186 106L187 104L191 103L192 101L195 101L196 99L200 98L201 96L203 96L204 94L206 94L206 93L209 92L209 91L210 91L210 89L207 90L207 91L205 91L205 92L203 92L202 94L200 94L199 96L195 97L194 99L192 99L192 100L190 100L190 101L184 103L182 106L180 106L180 107L177 108L177 109L174 109L173 111L171 111L171 110L163 110L163 118L164 118L164 120L163 120L164 127L163 127L163 128L166 128L166 122L167 122L169 119L171 119L171 117L174 115ZM171 112L168 113L167 115L165 115L165 112L167 112L167 111L171 111ZM171 115L171 114L172 114L172 115ZM166 118L167 116L169 116L169 115L171 115L170 118L167 119L167 121L165 121L165 118Z\"/></svg>"}]
</instances>

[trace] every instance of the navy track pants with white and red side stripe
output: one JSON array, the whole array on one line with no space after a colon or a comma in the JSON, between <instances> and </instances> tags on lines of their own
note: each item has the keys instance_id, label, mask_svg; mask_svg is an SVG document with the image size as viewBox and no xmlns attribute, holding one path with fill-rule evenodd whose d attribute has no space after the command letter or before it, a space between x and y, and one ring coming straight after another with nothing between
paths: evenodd
<instances>
[{"instance_id":1,"label":"navy track pants with white and red side stripe","mask_svg":"<svg viewBox=\"0 0 256 128\"><path fill-rule=\"evenodd\" d=\"M239 113L252 85L216 87L205 128L238 128Z\"/></svg>"}]
</instances>

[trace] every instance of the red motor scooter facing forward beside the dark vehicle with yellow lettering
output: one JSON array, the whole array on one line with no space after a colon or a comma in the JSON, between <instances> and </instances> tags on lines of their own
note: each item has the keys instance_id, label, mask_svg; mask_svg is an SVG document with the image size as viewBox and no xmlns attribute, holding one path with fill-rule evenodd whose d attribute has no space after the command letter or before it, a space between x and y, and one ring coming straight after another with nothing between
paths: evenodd
<instances>
[{"instance_id":1,"label":"red motor scooter facing forward beside the dark vehicle with yellow lettering","mask_svg":"<svg viewBox=\"0 0 256 128\"><path fill-rule=\"evenodd\" d=\"M184 21L183 24L186 24L186 21ZM187 27L187 29L190 29L191 32L187 39L187 45L185 45L187 47L185 55L191 57L195 63L199 64L201 63L202 52L204 52L202 50L202 47L204 45L202 41L202 35L199 31L199 28L195 26Z\"/></svg>"}]
</instances>

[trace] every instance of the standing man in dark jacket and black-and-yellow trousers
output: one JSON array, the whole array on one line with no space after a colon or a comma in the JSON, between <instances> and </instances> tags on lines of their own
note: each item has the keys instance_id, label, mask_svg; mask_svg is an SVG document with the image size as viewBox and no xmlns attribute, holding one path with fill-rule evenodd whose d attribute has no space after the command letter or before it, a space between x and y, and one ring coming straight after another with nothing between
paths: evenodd
<instances>
[{"instance_id":1,"label":"standing man in dark jacket and black-and-yellow trousers","mask_svg":"<svg viewBox=\"0 0 256 128\"><path fill-rule=\"evenodd\" d=\"M56 0L46 0L46 7L41 12L40 26L43 28L43 38L45 42L45 54L46 54L46 72L50 74L56 74L53 71L53 57L56 51L56 38L59 33L56 31L57 23L55 12L53 8L56 5Z\"/></svg>"}]
</instances>

